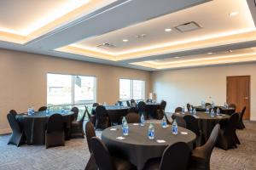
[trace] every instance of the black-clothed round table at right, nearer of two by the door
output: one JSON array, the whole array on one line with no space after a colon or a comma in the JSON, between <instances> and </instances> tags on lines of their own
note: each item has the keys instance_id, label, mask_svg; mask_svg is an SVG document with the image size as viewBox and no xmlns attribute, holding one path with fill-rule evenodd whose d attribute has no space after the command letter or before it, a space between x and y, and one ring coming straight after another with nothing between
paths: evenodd
<instances>
[{"instance_id":1,"label":"black-clothed round table at right, nearer of two by the door","mask_svg":"<svg viewBox=\"0 0 256 170\"><path fill-rule=\"evenodd\" d=\"M183 116L185 115L191 115L189 112L176 112L173 113L173 118L176 118L177 121L183 121ZM195 115L196 120L198 121L198 126L201 129L201 132L204 134L205 141L209 139L213 127L219 123L223 125L225 122L227 122L230 118L229 115L221 114L220 116L214 116L212 117L210 114L204 112L204 111L197 111Z\"/></svg>"}]
</instances>

